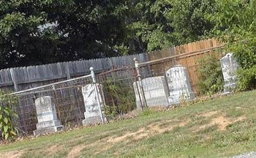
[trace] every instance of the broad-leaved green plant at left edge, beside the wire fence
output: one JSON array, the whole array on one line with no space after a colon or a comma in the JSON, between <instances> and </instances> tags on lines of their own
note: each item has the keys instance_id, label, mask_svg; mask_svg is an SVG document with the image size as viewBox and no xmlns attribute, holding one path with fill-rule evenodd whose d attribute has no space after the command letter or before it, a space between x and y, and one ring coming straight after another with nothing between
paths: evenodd
<instances>
[{"instance_id":1,"label":"broad-leaved green plant at left edge, beside the wire fence","mask_svg":"<svg viewBox=\"0 0 256 158\"><path fill-rule=\"evenodd\" d=\"M18 118L13 111L13 106L17 104L15 97L7 95L0 91L0 130L4 139L13 139L17 136L17 132L13 126L12 119Z\"/></svg>"}]
</instances>

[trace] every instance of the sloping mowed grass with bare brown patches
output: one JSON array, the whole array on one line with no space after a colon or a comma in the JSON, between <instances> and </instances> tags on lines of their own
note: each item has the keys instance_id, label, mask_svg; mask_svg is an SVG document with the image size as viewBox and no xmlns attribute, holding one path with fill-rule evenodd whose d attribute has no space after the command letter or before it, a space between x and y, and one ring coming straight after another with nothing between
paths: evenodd
<instances>
[{"instance_id":1,"label":"sloping mowed grass with bare brown patches","mask_svg":"<svg viewBox=\"0 0 256 158\"><path fill-rule=\"evenodd\" d=\"M2 157L229 157L256 150L256 91L0 146ZM0 156L0 157L1 157Z\"/></svg>"}]
</instances>

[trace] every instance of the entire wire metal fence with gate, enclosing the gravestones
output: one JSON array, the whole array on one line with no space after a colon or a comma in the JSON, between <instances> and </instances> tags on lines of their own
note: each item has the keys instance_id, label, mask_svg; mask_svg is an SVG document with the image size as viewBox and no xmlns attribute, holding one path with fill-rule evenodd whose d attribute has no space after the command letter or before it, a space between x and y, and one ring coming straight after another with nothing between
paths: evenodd
<instances>
[{"instance_id":1,"label":"entire wire metal fence with gate, enclosing the gravestones","mask_svg":"<svg viewBox=\"0 0 256 158\"><path fill-rule=\"evenodd\" d=\"M72 125L108 122L145 107L170 107L198 97L198 69L209 49L114 68L12 93L18 98L15 126L27 134L58 132Z\"/></svg>"}]
</instances>

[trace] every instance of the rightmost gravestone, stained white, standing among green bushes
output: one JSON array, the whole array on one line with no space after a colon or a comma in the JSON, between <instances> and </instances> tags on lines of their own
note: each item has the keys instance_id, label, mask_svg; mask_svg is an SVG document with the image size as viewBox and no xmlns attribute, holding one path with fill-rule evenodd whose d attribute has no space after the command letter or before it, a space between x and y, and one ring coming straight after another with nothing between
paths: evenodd
<instances>
[{"instance_id":1,"label":"rightmost gravestone, stained white, standing among green bushes","mask_svg":"<svg viewBox=\"0 0 256 158\"><path fill-rule=\"evenodd\" d=\"M234 58L233 53L226 54L220 59L222 74L225 81L224 93L229 93L236 88L237 75L236 71L239 68L239 64Z\"/></svg>"}]
</instances>

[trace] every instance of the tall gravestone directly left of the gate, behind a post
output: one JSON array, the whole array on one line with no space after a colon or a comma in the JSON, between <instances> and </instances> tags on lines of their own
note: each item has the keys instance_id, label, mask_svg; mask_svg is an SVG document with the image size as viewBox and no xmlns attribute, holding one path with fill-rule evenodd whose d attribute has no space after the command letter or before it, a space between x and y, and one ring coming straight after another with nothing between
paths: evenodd
<instances>
[{"instance_id":1,"label":"tall gravestone directly left of the gate, behind a post","mask_svg":"<svg viewBox=\"0 0 256 158\"><path fill-rule=\"evenodd\" d=\"M101 111L102 97L99 93L99 84L97 84L97 88L98 90L95 91L94 84L87 84L82 88L84 107L85 107L84 120L82 122L83 125L94 125L97 123L103 123L106 119L102 115L102 111ZM99 97L100 105L97 101L97 97Z\"/></svg>"}]
</instances>

